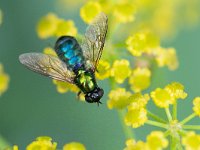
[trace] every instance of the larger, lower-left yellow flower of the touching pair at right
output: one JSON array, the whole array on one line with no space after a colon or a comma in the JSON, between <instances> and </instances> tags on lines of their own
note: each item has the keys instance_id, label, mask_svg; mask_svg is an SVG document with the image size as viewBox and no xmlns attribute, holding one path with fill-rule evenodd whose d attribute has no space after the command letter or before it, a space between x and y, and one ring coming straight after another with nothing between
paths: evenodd
<instances>
[{"instance_id":1,"label":"larger, lower-left yellow flower of the touching pair at right","mask_svg":"<svg viewBox=\"0 0 200 150\"><path fill-rule=\"evenodd\" d=\"M151 97L154 103L161 108L169 107L169 104L174 103L174 97L166 90L157 88L156 90L151 92Z\"/></svg>"}]
</instances>

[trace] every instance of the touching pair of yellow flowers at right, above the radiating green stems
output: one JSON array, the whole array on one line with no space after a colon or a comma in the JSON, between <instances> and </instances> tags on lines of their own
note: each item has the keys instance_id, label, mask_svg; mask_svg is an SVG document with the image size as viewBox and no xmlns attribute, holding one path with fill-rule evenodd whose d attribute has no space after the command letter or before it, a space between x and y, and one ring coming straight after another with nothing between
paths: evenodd
<instances>
[{"instance_id":1,"label":"touching pair of yellow flowers at right, above the radiating green stems","mask_svg":"<svg viewBox=\"0 0 200 150\"><path fill-rule=\"evenodd\" d=\"M173 104L176 101L176 99L185 99L187 93L185 93L182 84L173 82L164 89L157 88L152 91L151 97L158 107L168 108L170 104Z\"/></svg>"}]
</instances>

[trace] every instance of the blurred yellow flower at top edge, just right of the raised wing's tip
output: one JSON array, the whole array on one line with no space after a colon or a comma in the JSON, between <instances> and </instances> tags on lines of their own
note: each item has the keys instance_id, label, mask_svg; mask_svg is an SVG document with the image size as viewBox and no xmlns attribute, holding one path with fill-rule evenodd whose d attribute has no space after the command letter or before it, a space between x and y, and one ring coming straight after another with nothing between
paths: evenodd
<instances>
[{"instance_id":1,"label":"blurred yellow flower at top edge, just right of the raised wing's tip","mask_svg":"<svg viewBox=\"0 0 200 150\"><path fill-rule=\"evenodd\" d=\"M136 8L132 3L121 2L114 6L113 14L118 22L127 23L132 22Z\"/></svg>"}]
</instances>

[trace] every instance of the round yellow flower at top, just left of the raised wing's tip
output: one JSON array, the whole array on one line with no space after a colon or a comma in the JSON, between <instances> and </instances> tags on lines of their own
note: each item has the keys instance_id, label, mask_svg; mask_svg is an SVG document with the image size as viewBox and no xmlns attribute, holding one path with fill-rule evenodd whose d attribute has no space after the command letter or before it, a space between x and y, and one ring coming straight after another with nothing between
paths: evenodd
<instances>
[{"instance_id":1,"label":"round yellow flower at top, just left of the raised wing's tip","mask_svg":"<svg viewBox=\"0 0 200 150\"><path fill-rule=\"evenodd\" d=\"M91 23L96 15L102 11L99 2L89 1L80 10L80 16L86 23Z\"/></svg>"}]
</instances>

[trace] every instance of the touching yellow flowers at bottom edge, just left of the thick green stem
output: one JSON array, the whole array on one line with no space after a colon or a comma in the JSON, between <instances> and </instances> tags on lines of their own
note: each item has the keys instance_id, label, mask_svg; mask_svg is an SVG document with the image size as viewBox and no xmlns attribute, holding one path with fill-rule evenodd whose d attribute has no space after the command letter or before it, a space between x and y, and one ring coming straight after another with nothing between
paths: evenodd
<instances>
[{"instance_id":1,"label":"touching yellow flowers at bottom edge, just left of the thick green stem","mask_svg":"<svg viewBox=\"0 0 200 150\"><path fill-rule=\"evenodd\" d=\"M167 148L169 143L161 131L152 131L146 140L146 142L136 142L134 139L129 139L124 150L161 150Z\"/></svg>"}]
</instances>

